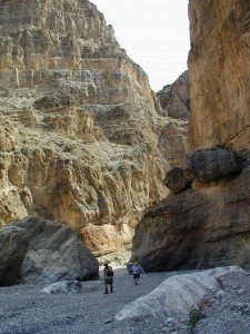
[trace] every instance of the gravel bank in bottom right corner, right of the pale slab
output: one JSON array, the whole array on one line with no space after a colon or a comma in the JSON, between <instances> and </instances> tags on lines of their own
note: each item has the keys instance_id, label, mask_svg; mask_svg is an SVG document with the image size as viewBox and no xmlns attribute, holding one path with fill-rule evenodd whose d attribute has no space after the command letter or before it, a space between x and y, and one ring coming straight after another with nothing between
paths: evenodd
<instances>
[{"instance_id":1,"label":"gravel bank in bottom right corner, right of the pale slab","mask_svg":"<svg viewBox=\"0 0 250 334\"><path fill-rule=\"evenodd\" d=\"M212 291L200 311L204 315L196 334L250 334L250 273L226 274L221 286Z\"/></svg>"}]
</instances>

